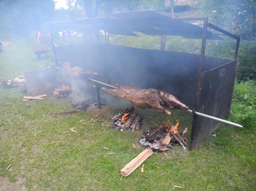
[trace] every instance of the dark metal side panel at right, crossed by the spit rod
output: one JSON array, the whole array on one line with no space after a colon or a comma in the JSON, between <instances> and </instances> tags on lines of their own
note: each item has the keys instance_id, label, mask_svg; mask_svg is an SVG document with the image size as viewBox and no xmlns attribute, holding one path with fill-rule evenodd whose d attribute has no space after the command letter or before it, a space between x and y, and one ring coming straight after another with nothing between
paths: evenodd
<instances>
[{"instance_id":1,"label":"dark metal side panel at right, crossed by the spit rod","mask_svg":"<svg viewBox=\"0 0 256 191\"><path fill-rule=\"evenodd\" d=\"M237 60L202 73L197 111L218 118L225 118L230 111L231 95L236 75ZM194 115L190 149L198 147L220 123Z\"/></svg>"}]
</instances>

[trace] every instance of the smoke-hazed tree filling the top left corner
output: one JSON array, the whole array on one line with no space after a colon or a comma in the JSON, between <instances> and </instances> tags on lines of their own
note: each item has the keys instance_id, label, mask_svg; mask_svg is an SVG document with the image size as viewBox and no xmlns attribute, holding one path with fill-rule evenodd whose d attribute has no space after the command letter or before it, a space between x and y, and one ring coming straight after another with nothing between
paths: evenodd
<instances>
[{"instance_id":1,"label":"smoke-hazed tree filling the top left corner","mask_svg":"<svg viewBox=\"0 0 256 191\"><path fill-rule=\"evenodd\" d=\"M40 30L49 22L54 11L53 0L2 0L0 1L0 34L25 36L30 29Z\"/></svg>"}]
</instances>

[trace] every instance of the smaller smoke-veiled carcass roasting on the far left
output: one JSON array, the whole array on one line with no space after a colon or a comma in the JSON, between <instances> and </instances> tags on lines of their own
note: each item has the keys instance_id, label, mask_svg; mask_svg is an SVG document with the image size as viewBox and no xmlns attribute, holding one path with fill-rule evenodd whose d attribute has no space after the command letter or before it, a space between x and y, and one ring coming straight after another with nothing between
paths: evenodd
<instances>
[{"instance_id":1,"label":"smaller smoke-veiled carcass roasting on the far left","mask_svg":"<svg viewBox=\"0 0 256 191\"><path fill-rule=\"evenodd\" d=\"M66 71L70 76L82 76L82 75L97 75L96 72L84 70L82 67L70 67L69 62L58 62L62 65L62 69Z\"/></svg>"}]
</instances>

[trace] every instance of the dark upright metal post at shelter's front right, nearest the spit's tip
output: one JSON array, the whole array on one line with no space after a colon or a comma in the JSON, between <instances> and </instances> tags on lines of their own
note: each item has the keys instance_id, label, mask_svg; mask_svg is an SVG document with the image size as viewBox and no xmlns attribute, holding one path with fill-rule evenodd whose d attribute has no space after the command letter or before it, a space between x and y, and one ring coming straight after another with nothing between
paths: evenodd
<instances>
[{"instance_id":1,"label":"dark upright metal post at shelter's front right, nearest the spit's tip","mask_svg":"<svg viewBox=\"0 0 256 191\"><path fill-rule=\"evenodd\" d=\"M199 102L200 86L201 86L201 74L202 74L203 64L204 64L204 60L205 60L207 25L208 25L208 18L205 18L204 28L203 28L203 36L202 36L202 44L201 44L201 55L200 55L200 62L199 62L199 69L198 69L198 78L197 78L196 107L198 107L198 102Z\"/></svg>"}]
</instances>

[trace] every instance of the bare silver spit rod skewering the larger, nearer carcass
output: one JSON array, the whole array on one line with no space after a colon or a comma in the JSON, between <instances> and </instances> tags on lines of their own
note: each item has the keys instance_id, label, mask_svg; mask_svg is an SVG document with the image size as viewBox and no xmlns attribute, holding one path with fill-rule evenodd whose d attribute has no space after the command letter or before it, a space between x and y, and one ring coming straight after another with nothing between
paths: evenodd
<instances>
[{"instance_id":1,"label":"bare silver spit rod skewering the larger, nearer carcass","mask_svg":"<svg viewBox=\"0 0 256 191\"><path fill-rule=\"evenodd\" d=\"M109 84L105 84L101 81L98 81L98 80L93 80L91 78L88 78L88 80L91 80L91 81L94 81L96 83L99 83L99 84L103 84L103 85L106 85L106 86L109 86L109 87L112 87L112 88L117 88L113 85L109 85ZM233 122L230 122L230 121L227 121L227 120L223 120L223 119L220 119L218 117L214 117L214 116L211 116L211 115L206 115L206 114L203 114L203 113L200 113L200 112L197 112L197 111L192 111L190 109L188 110L183 110L183 111L187 111L193 115L199 115L199 116L202 116L202 117L205 117L205 118L208 118L208 119L211 119L211 120L215 120L215 121L219 121L221 123L224 123L224 124L229 124L229 125L232 125L234 127L239 127L239 128L243 128L243 126L241 124L236 124L236 123L233 123Z\"/></svg>"}]
</instances>

